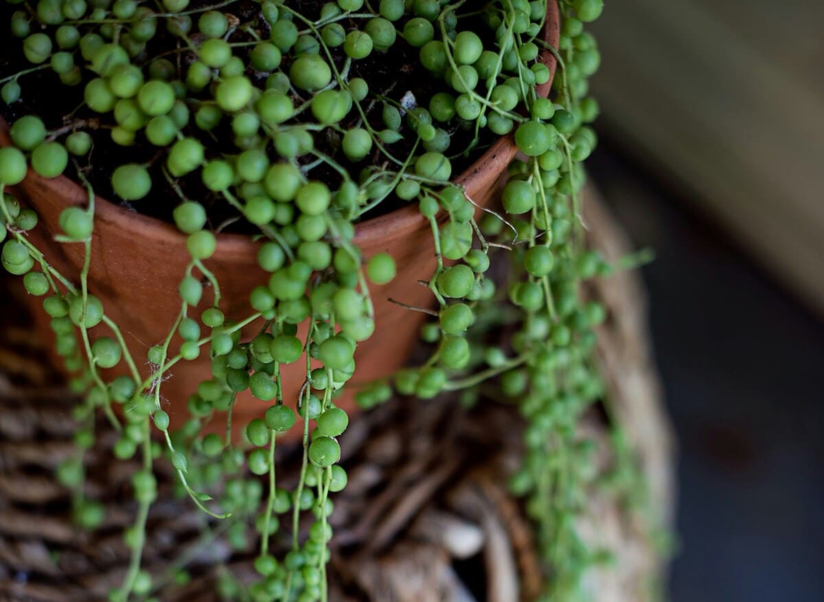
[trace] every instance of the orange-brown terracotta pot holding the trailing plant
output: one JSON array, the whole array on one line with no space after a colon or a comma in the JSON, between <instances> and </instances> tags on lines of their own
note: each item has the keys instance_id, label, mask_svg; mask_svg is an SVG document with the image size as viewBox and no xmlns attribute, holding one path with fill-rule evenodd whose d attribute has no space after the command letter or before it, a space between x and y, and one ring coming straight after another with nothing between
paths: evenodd
<instances>
[{"instance_id":1,"label":"orange-brown terracotta pot holding the trailing plant","mask_svg":"<svg viewBox=\"0 0 824 602\"><path fill-rule=\"evenodd\" d=\"M556 46L559 35L558 7L550 2L544 39ZM555 72L555 58L549 52L541 60ZM551 82L551 79L550 79ZM540 86L545 95L549 84ZM0 118L0 145L10 143L7 124ZM498 194L506 168L515 156L512 136L500 138L478 161L456 178L456 184L466 187L467 195L480 206L485 206ZM61 231L60 212L72 205L85 206L87 192L66 177L47 180L33 171L14 191L23 203L29 204L40 215L39 225L30 232L30 239L44 251L50 264L67 278L77 282L83 264L83 246L61 244L54 236ZM353 390L358 383L390 375L403 366L413 347L424 315L406 310L388 301L392 298L411 306L431 306L432 293L420 286L419 280L428 280L435 268L432 233L428 222L420 216L417 206L411 205L382 217L358 224L355 242L365 258L386 252L396 260L396 278L382 287L372 286L370 292L375 306L375 334L358 346L355 357L356 377L336 403L352 412ZM219 234L217 251L205 262L221 285L221 309L228 318L242 320L253 313L248 305L251 290L268 281L256 261L256 245L248 236ZM119 324L130 352L148 376L146 352L153 344L166 338L171 324L180 311L177 287L189 264L185 236L174 226L152 217L146 217L96 198L95 230L91 245L89 290L103 302L106 314ZM40 334L54 338L48 316L40 306L40 299L30 297ZM190 315L212 306L208 289L204 299ZM244 339L253 336L260 324L250 324ZM110 334L105 326L93 329L92 338ZM305 336L303 333L298 336ZM172 350L180 346L177 338ZM50 346L53 347L53 346ZM205 351L205 349L204 349ZM55 356L55 362L62 362ZM283 366L284 399L294 403L305 372L302 361ZM124 362L106 371L105 376L128 374ZM162 397L173 425L188 418L186 402L201 380L211 376L208 352L193 362L180 362L171 369L171 377L162 383ZM354 385L354 386L352 386ZM251 418L260 417L269 407L246 391L239 394L232 422L244 427ZM222 418L222 417L219 417ZM215 427L218 427L215 424Z\"/></svg>"}]
</instances>

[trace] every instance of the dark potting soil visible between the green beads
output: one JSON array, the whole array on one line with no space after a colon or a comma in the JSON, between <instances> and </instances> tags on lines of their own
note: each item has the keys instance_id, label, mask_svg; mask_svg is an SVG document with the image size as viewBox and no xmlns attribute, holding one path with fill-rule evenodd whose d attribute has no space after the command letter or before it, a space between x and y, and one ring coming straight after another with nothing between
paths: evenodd
<instances>
[{"instance_id":1,"label":"dark potting soil visible between the green beads","mask_svg":"<svg viewBox=\"0 0 824 602\"><path fill-rule=\"evenodd\" d=\"M187 10L196 9L198 7L207 7L213 5L213 0L192 0ZM286 2L287 5L295 7L301 11L303 15L311 19L316 19L320 16L321 6L323 2L320 0L293 0L293 2ZM26 58L23 56L21 49L21 40L12 36L9 31L9 23L12 18L12 13L16 10L25 10L24 4L9 4L8 2L0 2L0 27L3 31L0 32L0 79L9 77L15 72L26 70L32 67ZM231 13L237 16L241 23L253 23L255 30L260 35L260 39L266 40L269 38L269 26L263 17L260 15L260 4L252 2L251 0L236 0L227 7L222 7L222 11ZM194 15L196 23L197 15ZM342 21L341 24L344 29L349 30L354 26L354 23ZM404 21L396 22L396 28L402 30ZM33 20L31 23L31 31L34 33L37 30L38 23ZM195 25L196 27L196 25ZM54 29L54 28L51 28ZM484 26L473 27L473 30L484 31ZM81 27L81 33L84 33ZM194 36L193 36L194 37ZM251 40L246 32L238 31L232 34L229 41L243 42ZM485 40L488 42L489 40ZM161 54L166 56L178 66L194 61L194 54L188 50L181 50L183 44L178 38L166 32L164 26L157 28L157 35L147 45L146 51L133 58L133 62L143 64L148 62L148 57L157 57ZM55 51L57 47L55 46ZM367 58L353 61L350 69L350 77L362 77L368 82L369 89L372 92L380 93L382 96L400 102L404 96L411 94L417 101L418 105L428 106L429 99L437 91L442 90L442 83L438 82L430 72L428 72L421 64L418 58L419 50L406 44L400 37L397 38L396 44L386 53L373 51ZM335 58L335 63L340 68L345 60L343 50L332 49L332 55ZM79 50L75 53L75 60L78 65L82 66L83 59ZM48 65L49 63L44 63ZM281 70L288 72L289 58L284 55ZM8 123L12 123L15 119L19 119L26 114L36 114L43 119L46 128L49 132L59 131L62 134L73 131L73 129L89 129L89 128L110 128L114 124L114 119L109 115L101 116L89 110L83 102L83 88L86 82L89 81L88 72L84 73L83 83L78 86L65 86L60 82L58 75L50 68L27 73L19 78L22 88L21 100L13 103L11 106L6 105L0 101L0 112ZM261 88L264 87L266 74L257 73L254 71L247 71L246 75L251 78L256 85ZM191 98L203 100L211 100L208 96L208 91L203 95L191 95ZM300 105L306 98L299 98L293 96L295 105ZM369 124L371 124L378 131L384 128L382 123L382 104L375 103L365 107L366 115ZM204 133L194 125L194 110L196 107L190 103L190 125L185 128L185 133L190 136L195 136L204 143L207 149L207 156L215 156L220 152L221 147L234 148L232 128L230 119L222 119L222 123L218 125L211 133ZM102 119L101 119L102 117ZM349 122L342 124L344 127L353 127L358 121L357 111L351 111L349 114ZM470 127L466 127L470 126ZM405 138L400 142L392 144L390 151L394 156L405 157L409 156L412 151L416 135L404 123L400 128L400 133L405 135ZM480 153L488 147L493 138L487 132L488 138L482 138L480 144L476 145L469 152L460 152L461 149L466 149L474 137L474 124L464 124L464 127L456 126L454 131L450 132L452 136L452 145L450 147L450 158L452 159L452 172L459 174L466 169ZM81 170L82 174L91 183L91 186L96 191L96 194L103 198L108 198L113 202L119 202L126 208L133 211L143 213L148 216L158 217L166 222L171 222L171 212L180 203L180 196L175 189L166 182L162 173L162 165L165 162L165 152L162 149L152 146L143 138L142 133L138 133L136 143L131 147L122 147L113 142L109 136L97 133L94 136L95 145L87 157L79 157L76 161L70 161L67 170L67 175L73 180L78 181L77 170ZM225 143L224 143L225 141ZM377 150L372 152L365 160L358 163L349 162L342 152L336 153L339 147L339 138L337 133L332 133L331 130L325 130L321 133L315 134L316 148L325 152L327 155L334 155L335 160L341 166L349 170L353 180L358 180L358 172L368 166L382 166L387 163L386 157ZM455 152L459 152L457 156ZM275 159L275 152L269 149L270 156ZM311 161L311 156L303 157L303 165L307 165ZM152 192L139 201L129 203L127 201L115 198L115 194L111 189L110 177L111 173L116 167L124 163L147 163L150 164L150 173L152 174ZM388 164L387 167L390 167ZM331 188L335 188L340 182L339 174L330 166L320 164L311 169L310 177L315 180L325 181L330 184ZM218 194L210 192L205 189L201 183L199 171L194 174L187 175L179 180L177 184L185 193L187 198L197 200L204 203L210 217L210 226L215 230L221 231L236 231L236 232L255 232L255 226L251 226L246 220L237 219L237 213L227 201ZM367 217L376 217L379 214L391 212L406 204L398 198L390 197L385 202L368 214Z\"/></svg>"}]
</instances>

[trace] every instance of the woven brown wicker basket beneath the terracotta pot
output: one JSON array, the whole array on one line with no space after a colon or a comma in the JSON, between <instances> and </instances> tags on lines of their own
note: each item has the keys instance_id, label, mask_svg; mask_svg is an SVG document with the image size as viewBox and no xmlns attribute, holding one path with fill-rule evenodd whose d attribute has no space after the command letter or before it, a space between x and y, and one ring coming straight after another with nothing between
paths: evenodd
<instances>
[{"instance_id":1,"label":"woven brown wicker basket beneath the terracotta pot","mask_svg":"<svg viewBox=\"0 0 824 602\"><path fill-rule=\"evenodd\" d=\"M592 191L585 203L592 244L609 259L627 249L620 230ZM0 282L16 290L17 282ZM588 295L608 311L599 357L613 419L630 436L649 489L648 520L639 520L607 492L593 491L580 531L616 552L610 567L593 570L587 586L599 602L651 600L662 582L666 554L658 530L672 511L672 438L650 361L645 300L633 273L599 281ZM87 453L87 488L106 504L105 525L92 534L73 528L69 493L54 468L73 453L73 400L32 341L13 295L0 296L0 600L105 600L129 558L122 533L133 516L128 463L114 462L114 435L101 422L101 446ZM614 461L605 418L592 413L583 429ZM335 546L330 600L435 602L531 600L541 582L531 525L508 495L504 475L517 463L512 408L483 404L471 413L454 400L396 399L363 414L344 441L349 487L335 497ZM280 477L279 477L280 478ZM288 477L287 477L288 478ZM252 553L238 554L219 536L204 540L204 515L172 496L171 472L147 526L145 565L160 600L218 600L214 578L231 570L250 575ZM345 550L345 553L344 553ZM173 558L192 579L170 581Z\"/></svg>"}]
</instances>

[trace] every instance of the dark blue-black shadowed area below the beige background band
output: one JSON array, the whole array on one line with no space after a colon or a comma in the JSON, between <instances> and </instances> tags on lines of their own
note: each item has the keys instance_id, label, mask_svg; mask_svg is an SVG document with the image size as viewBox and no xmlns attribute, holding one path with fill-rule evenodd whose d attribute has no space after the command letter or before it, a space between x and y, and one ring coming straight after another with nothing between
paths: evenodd
<instances>
[{"instance_id":1,"label":"dark blue-black shadowed area below the beige background band","mask_svg":"<svg viewBox=\"0 0 824 602\"><path fill-rule=\"evenodd\" d=\"M588 165L657 254L644 280L680 455L671 599L824 600L824 326L620 148Z\"/></svg>"}]
</instances>

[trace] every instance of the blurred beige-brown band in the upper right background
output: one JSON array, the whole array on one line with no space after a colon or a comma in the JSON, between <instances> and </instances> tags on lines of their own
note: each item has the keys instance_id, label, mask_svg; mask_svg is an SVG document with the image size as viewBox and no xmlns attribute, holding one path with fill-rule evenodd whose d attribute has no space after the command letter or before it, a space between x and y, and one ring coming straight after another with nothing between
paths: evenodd
<instances>
[{"instance_id":1,"label":"blurred beige-brown band in the upper right background","mask_svg":"<svg viewBox=\"0 0 824 602\"><path fill-rule=\"evenodd\" d=\"M824 2L607 0L603 126L824 315Z\"/></svg>"}]
</instances>

